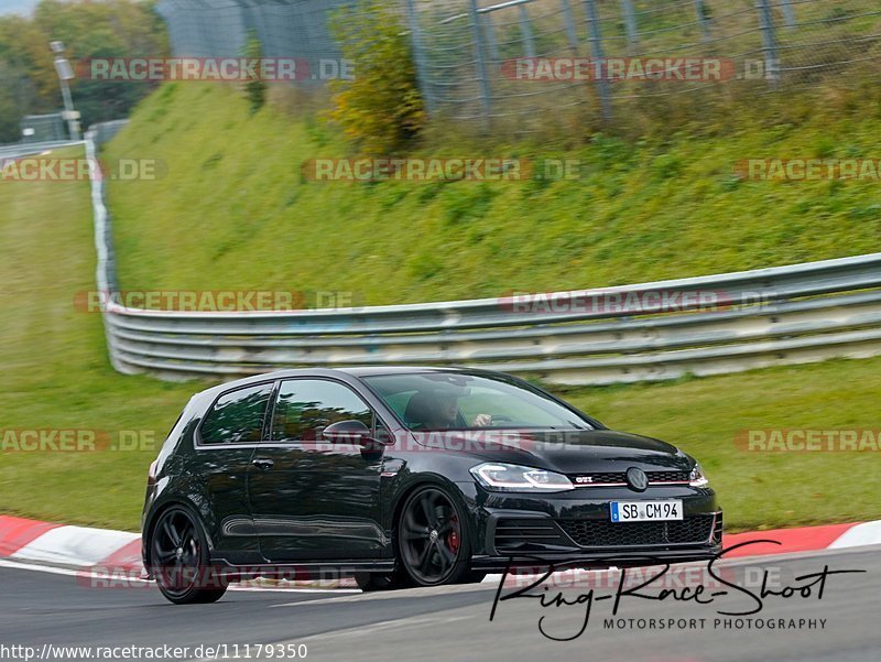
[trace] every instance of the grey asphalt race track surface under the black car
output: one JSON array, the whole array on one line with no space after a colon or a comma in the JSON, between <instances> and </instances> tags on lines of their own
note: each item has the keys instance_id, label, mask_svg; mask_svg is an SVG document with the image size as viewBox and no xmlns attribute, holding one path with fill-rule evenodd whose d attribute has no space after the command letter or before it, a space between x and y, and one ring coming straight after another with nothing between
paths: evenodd
<instances>
[{"instance_id":1,"label":"grey asphalt race track surface under the black car","mask_svg":"<svg viewBox=\"0 0 881 662\"><path fill-rule=\"evenodd\" d=\"M490 622L497 583L384 594L231 590L216 605L175 607L152 587L98 589L84 586L81 579L70 575L20 569L4 563L0 567L0 645L168 644L195 651L199 645L226 643L230 644L227 659L232 659L231 644L281 642L306 644L307 659L320 662L881 660L881 547L722 562L717 572L758 592L765 572L772 578L769 586L782 589L811 583L798 577L820 573L825 565L829 571L867 572L828 576L822 599L815 585L809 597L771 596L765 598L761 614L740 617L786 622L826 619L823 629L715 627L717 618L736 618L719 616L717 609L743 611L757 605L753 598L731 589L711 605L624 597L616 618L634 619L637 625L606 629L603 621L611 616L612 599L599 598L614 590L594 585L596 601L585 632L561 642L540 632L540 619L545 617L542 627L548 634L572 637L584 623L584 603L543 608L539 599L511 599L499 604ZM749 583L746 577L751 578ZM590 588L581 584L563 595L575 601ZM725 587L717 584L710 588ZM512 590L507 586L502 595ZM546 593L553 596L557 590L554 587ZM651 618L694 622L703 618L706 627L661 630L643 623L639 628L639 619ZM244 659L244 649L239 650L239 659ZM0 648L0 659L2 653ZM188 659L194 655L192 652ZM251 659L255 659L253 651Z\"/></svg>"}]
</instances>

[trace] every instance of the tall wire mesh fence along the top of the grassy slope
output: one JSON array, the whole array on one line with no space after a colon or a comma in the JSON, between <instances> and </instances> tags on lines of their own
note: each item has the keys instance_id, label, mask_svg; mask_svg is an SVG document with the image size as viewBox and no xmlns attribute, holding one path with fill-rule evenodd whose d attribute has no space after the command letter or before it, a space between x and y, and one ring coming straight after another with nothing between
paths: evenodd
<instances>
[{"instance_id":1,"label":"tall wire mesh fence along the top of the grassy slope","mask_svg":"<svg viewBox=\"0 0 881 662\"><path fill-rule=\"evenodd\" d=\"M341 8L357 17L359 7L356 0L159 3L175 55L239 56L253 30L268 56L313 62L340 57L330 18ZM881 56L881 6L872 0L390 0L387 7L409 32L432 113L514 132L548 121L543 110L612 121L667 99L703 104L729 85L766 91L829 75L847 82L855 67Z\"/></svg>"}]
</instances>

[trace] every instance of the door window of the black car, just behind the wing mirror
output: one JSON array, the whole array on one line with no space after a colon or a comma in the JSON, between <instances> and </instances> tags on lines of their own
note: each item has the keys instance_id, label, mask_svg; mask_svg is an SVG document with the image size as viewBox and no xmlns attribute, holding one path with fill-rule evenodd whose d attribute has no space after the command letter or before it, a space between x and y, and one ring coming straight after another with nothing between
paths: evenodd
<instances>
[{"instance_id":1,"label":"door window of the black car, just behind the wing mirror","mask_svg":"<svg viewBox=\"0 0 881 662\"><path fill-rule=\"evenodd\" d=\"M283 381L272 417L272 441L318 441L330 423L351 420L370 427L372 413L349 387L322 379Z\"/></svg>"}]
</instances>

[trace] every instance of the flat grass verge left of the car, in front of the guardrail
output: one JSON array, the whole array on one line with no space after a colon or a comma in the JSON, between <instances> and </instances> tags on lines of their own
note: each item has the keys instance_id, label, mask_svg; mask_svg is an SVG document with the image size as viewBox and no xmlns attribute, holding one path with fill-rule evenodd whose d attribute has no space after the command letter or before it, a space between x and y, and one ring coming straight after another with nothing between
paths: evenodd
<instances>
[{"instance_id":1,"label":"flat grass verge left of the car, in front of the guardrail","mask_svg":"<svg viewBox=\"0 0 881 662\"><path fill-rule=\"evenodd\" d=\"M70 154L73 155L73 154ZM87 182L0 182L0 431L157 431L174 423L192 386L112 370L100 315L74 308L95 289ZM134 530L150 449L0 452L0 509L50 521Z\"/></svg>"}]
</instances>

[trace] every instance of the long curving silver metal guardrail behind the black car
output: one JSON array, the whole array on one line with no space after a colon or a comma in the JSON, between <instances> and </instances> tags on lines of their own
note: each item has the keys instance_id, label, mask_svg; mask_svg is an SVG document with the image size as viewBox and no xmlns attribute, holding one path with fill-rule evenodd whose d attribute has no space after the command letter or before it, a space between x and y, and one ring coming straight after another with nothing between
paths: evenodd
<instances>
[{"instance_id":1,"label":"long curving silver metal guardrail behind the black car","mask_svg":"<svg viewBox=\"0 0 881 662\"><path fill-rule=\"evenodd\" d=\"M112 132L90 131L87 155ZM108 348L123 372L468 365L597 384L881 355L881 253L537 296L293 312L126 307L102 178L91 187Z\"/></svg>"}]
</instances>

